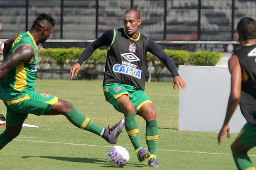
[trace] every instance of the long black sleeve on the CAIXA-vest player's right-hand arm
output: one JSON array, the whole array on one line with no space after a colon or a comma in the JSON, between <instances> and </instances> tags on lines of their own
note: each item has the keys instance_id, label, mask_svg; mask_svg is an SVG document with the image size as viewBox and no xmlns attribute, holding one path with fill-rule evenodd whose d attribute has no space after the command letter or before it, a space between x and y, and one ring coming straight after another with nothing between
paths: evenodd
<instances>
[{"instance_id":1,"label":"long black sleeve on the CAIXA-vest player's right-hand arm","mask_svg":"<svg viewBox=\"0 0 256 170\"><path fill-rule=\"evenodd\" d=\"M148 52L156 55L172 73L172 77L180 76L175 63L152 39L148 39Z\"/></svg>"}]
</instances>

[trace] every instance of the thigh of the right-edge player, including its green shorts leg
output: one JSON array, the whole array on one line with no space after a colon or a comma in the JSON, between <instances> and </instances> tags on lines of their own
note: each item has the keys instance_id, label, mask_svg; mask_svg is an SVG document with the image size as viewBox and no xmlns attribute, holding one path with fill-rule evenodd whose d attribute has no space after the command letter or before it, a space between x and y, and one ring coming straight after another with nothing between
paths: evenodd
<instances>
[{"instance_id":1,"label":"thigh of the right-edge player, including its green shorts leg","mask_svg":"<svg viewBox=\"0 0 256 170\"><path fill-rule=\"evenodd\" d=\"M246 123L232 144L232 151L249 150L254 146L256 146L256 125Z\"/></svg>"}]
</instances>

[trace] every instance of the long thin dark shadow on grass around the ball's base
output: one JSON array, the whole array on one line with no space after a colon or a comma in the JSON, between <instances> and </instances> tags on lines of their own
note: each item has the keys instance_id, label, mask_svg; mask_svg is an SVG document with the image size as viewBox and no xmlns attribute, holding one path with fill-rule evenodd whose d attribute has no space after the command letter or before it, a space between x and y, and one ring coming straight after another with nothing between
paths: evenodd
<instances>
[{"instance_id":1,"label":"long thin dark shadow on grass around the ball's base","mask_svg":"<svg viewBox=\"0 0 256 170\"><path fill-rule=\"evenodd\" d=\"M70 157L62 157L62 156L22 156L21 158L48 158L48 159L55 159L55 160L62 160L62 161L69 161L69 162L81 162L81 163L91 163L91 164L102 164L104 166L102 167L111 167L110 164L108 164L107 159L101 159L101 158L70 158ZM142 165L137 162L128 162L128 166L134 166L134 167L143 167L146 165Z\"/></svg>"}]
</instances>

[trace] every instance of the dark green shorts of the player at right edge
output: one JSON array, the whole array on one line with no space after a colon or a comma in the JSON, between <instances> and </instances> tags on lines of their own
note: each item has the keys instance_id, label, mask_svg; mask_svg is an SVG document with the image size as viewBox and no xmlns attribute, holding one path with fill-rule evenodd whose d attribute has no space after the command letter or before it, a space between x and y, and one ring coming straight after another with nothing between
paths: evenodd
<instances>
[{"instance_id":1,"label":"dark green shorts of the player at right edge","mask_svg":"<svg viewBox=\"0 0 256 170\"><path fill-rule=\"evenodd\" d=\"M242 144L250 147L256 146L256 125L247 122L236 138Z\"/></svg>"}]
</instances>

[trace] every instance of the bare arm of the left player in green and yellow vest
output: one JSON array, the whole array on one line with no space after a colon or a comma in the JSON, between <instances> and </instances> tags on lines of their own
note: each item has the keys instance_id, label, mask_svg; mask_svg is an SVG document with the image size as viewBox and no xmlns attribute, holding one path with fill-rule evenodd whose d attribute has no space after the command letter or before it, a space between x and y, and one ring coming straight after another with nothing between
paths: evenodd
<instances>
[{"instance_id":1,"label":"bare arm of the left player in green and yellow vest","mask_svg":"<svg viewBox=\"0 0 256 170\"><path fill-rule=\"evenodd\" d=\"M16 51L0 65L0 79L21 62L30 62L34 59L34 48L30 45L20 45Z\"/></svg>"}]
</instances>

